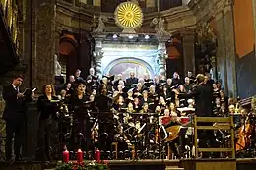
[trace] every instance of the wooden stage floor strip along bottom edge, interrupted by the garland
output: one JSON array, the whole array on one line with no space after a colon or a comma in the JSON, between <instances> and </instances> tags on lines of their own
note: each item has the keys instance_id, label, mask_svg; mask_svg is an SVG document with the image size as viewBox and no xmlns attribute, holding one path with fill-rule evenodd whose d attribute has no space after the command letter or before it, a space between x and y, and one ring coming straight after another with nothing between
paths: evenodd
<instances>
[{"instance_id":1,"label":"wooden stage floor strip along bottom edge, interrupted by the garland","mask_svg":"<svg viewBox=\"0 0 256 170\"><path fill-rule=\"evenodd\" d=\"M109 160L110 170L255 170L256 158L181 159L181 160ZM42 162L0 162L0 170L54 170L54 164Z\"/></svg>"}]
</instances>

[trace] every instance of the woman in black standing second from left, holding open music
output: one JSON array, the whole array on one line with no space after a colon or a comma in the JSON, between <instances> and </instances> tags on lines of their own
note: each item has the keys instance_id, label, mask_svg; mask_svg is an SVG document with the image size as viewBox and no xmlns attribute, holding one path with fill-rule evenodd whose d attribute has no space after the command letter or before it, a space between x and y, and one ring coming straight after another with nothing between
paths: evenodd
<instances>
[{"instance_id":1,"label":"woman in black standing second from left, holding open music","mask_svg":"<svg viewBox=\"0 0 256 170\"><path fill-rule=\"evenodd\" d=\"M52 161L50 155L50 146L52 130L56 128L55 120L58 117L58 97L55 96L53 85L44 85L42 88L43 95L37 100L39 111L39 139L37 143L37 159L40 161Z\"/></svg>"}]
</instances>

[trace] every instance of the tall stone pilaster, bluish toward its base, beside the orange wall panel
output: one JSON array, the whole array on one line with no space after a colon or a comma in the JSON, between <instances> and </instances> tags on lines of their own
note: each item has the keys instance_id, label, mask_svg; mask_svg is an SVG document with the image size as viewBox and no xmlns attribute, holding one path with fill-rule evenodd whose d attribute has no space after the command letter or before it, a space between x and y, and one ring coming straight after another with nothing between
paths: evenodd
<instances>
[{"instance_id":1,"label":"tall stone pilaster, bluish toward its base, beside the orange wall panel","mask_svg":"<svg viewBox=\"0 0 256 170\"><path fill-rule=\"evenodd\" d=\"M235 43L234 23L231 5L227 5L216 16L217 21L217 65L222 81L222 87L226 94L236 97L236 67L235 67Z\"/></svg>"}]
</instances>

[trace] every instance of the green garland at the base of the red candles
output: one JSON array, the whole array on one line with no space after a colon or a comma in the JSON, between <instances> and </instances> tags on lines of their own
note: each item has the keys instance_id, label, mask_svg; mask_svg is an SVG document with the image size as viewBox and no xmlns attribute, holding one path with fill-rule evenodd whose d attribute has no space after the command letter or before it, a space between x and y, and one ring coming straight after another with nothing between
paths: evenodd
<instances>
[{"instance_id":1,"label":"green garland at the base of the red candles","mask_svg":"<svg viewBox=\"0 0 256 170\"><path fill-rule=\"evenodd\" d=\"M108 170L107 162L58 163L55 170Z\"/></svg>"}]
</instances>

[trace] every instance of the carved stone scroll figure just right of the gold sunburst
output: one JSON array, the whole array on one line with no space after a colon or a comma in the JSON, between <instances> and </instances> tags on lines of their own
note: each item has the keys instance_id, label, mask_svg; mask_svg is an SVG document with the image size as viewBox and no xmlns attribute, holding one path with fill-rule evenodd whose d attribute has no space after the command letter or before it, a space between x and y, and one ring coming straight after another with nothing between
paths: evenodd
<instances>
[{"instance_id":1,"label":"carved stone scroll figure just right of the gold sunburst","mask_svg":"<svg viewBox=\"0 0 256 170\"><path fill-rule=\"evenodd\" d=\"M156 17L151 22L151 27L155 28L158 35L170 36L171 33L167 32L164 28L165 20L161 17Z\"/></svg>"}]
</instances>

